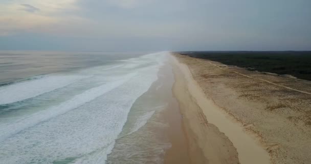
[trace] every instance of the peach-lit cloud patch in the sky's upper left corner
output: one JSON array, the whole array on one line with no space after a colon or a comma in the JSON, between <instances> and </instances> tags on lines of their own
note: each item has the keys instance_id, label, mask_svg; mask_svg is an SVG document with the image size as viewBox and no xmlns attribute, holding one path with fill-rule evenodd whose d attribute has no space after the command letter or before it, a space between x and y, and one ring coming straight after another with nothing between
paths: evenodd
<instances>
[{"instance_id":1,"label":"peach-lit cloud patch in the sky's upper left corner","mask_svg":"<svg viewBox=\"0 0 311 164\"><path fill-rule=\"evenodd\" d=\"M55 24L76 19L77 0L12 0L0 3L0 36L24 32L45 32ZM31 4L31 5L30 5ZM43 10L44 9L44 10ZM81 21L81 20L77 20Z\"/></svg>"}]
</instances>

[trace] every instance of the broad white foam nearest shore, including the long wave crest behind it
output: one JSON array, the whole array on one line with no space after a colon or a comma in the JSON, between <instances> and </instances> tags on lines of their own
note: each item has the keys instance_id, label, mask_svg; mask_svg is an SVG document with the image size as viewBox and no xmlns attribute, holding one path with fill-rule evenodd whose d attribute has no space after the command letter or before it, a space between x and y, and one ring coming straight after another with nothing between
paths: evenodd
<instances>
[{"instance_id":1,"label":"broad white foam nearest shore, including the long wave crest behind it","mask_svg":"<svg viewBox=\"0 0 311 164\"><path fill-rule=\"evenodd\" d=\"M150 61L159 56L153 57L150 56ZM131 106L158 78L160 65L151 63L121 80L92 88L58 106L1 126L0 131L5 134L0 134L3 139L0 161L52 163L74 158L75 163L104 163ZM135 129L146 124L152 114L141 117Z\"/></svg>"}]
</instances>

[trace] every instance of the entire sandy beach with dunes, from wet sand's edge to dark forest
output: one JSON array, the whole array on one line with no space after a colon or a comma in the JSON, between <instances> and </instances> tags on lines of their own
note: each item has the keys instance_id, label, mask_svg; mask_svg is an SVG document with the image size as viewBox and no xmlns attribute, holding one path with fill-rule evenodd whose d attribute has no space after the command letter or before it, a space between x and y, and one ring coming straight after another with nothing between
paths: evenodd
<instances>
[{"instance_id":1,"label":"entire sandy beach with dunes, from wet sand's edge to dark forest","mask_svg":"<svg viewBox=\"0 0 311 164\"><path fill-rule=\"evenodd\" d=\"M180 54L172 65L191 163L311 161L310 81Z\"/></svg>"}]
</instances>

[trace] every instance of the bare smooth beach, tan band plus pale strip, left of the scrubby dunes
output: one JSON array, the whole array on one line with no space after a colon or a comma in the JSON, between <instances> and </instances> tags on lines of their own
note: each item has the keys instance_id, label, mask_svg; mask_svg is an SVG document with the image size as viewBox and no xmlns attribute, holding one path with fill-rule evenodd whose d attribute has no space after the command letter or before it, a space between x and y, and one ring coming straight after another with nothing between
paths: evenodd
<instances>
[{"instance_id":1,"label":"bare smooth beach, tan band plus pale strip, left of the scrubby dunes","mask_svg":"<svg viewBox=\"0 0 311 164\"><path fill-rule=\"evenodd\" d=\"M190 126L192 124L189 129L192 129L195 140L193 147L201 149L206 158L205 161L195 163L270 163L269 154L259 140L243 130L242 125L206 97L192 78L187 65L180 63L174 56L171 58L175 75L174 95L186 117L184 121L188 121ZM181 91L181 88L186 90ZM192 113L187 113L189 108L193 109Z\"/></svg>"}]
</instances>

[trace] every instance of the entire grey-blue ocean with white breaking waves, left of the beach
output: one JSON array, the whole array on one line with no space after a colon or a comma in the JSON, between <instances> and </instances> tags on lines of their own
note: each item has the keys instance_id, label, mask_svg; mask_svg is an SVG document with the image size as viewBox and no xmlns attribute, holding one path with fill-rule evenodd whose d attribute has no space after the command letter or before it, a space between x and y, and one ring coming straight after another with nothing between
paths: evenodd
<instances>
[{"instance_id":1,"label":"entire grey-blue ocean with white breaking waves, left of the beach","mask_svg":"<svg viewBox=\"0 0 311 164\"><path fill-rule=\"evenodd\" d=\"M168 54L0 51L0 163L163 163Z\"/></svg>"}]
</instances>

